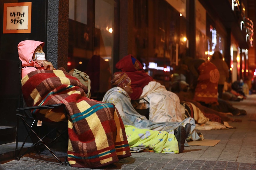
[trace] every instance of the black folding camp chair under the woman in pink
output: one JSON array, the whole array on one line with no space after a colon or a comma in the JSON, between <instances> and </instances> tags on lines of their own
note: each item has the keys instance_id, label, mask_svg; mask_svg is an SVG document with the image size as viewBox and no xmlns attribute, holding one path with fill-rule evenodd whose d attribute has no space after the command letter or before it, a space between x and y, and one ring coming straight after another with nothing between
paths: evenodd
<instances>
[{"instance_id":1,"label":"black folding camp chair under the woman in pink","mask_svg":"<svg viewBox=\"0 0 256 170\"><path fill-rule=\"evenodd\" d=\"M20 80L21 80L21 61L18 61L18 65L20 68L19 74L20 74ZM61 165L63 165L63 163L59 160L59 158L57 158L57 156L53 153L53 151L50 149L50 147L60 137L64 137L64 140L68 141L68 139L67 139L67 129L68 129L67 119L68 118L67 118L65 105L63 103L60 103L60 104L46 105L46 106L26 107L26 102L24 100L23 100L23 106L21 106L22 100L23 100L23 95L21 92L21 84L20 84L18 109L16 109L16 111L18 111L18 114L16 114L17 115L17 135L16 135L15 160L19 160L22 156L24 156L26 153L31 151L31 149L37 150L38 153L40 153L44 149L48 149L50 151L50 153L57 159L57 161ZM66 116L66 119L64 119L61 122L42 121L42 120L37 119L37 117L31 113L31 110L33 110L33 109L39 109L39 110L48 109L49 110L49 109L54 109L57 107L63 107L63 113L65 113L65 116ZM22 121L22 123L24 124L24 126L26 128L27 136L25 137L25 140L23 141L22 146L18 150L18 135L19 135L19 131L20 131L19 130L19 121L20 120ZM50 130L48 132L46 132L47 133L46 135L45 134L42 135L40 133L40 131L37 132L37 130L35 130L35 127L38 127L38 129L43 129L43 131L45 131L44 127L47 127L47 130L49 130L49 129ZM49 135L52 135L53 132L54 133L56 132L56 137L54 139L52 139L52 137L51 137L51 140L52 140L51 142L45 142L45 139L49 139ZM66 135L66 137L65 137L65 135ZM28 148L24 153L21 153L25 143L28 140L28 137L30 137L33 145L30 148ZM43 146L43 149L40 149L41 146ZM64 163L65 164L67 163L67 158Z\"/></svg>"}]
</instances>

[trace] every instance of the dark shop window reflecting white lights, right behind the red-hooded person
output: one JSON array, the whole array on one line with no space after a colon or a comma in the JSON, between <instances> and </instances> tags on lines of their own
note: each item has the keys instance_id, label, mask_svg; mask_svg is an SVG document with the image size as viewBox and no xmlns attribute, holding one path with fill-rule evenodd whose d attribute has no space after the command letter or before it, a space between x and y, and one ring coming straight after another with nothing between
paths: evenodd
<instances>
[{"instance_id":1,"label":"dark shop window reflecting white lights, right behind the red-hooded person","mask_svg":"<svg viewBox=\"0 0 256 170\"><path fill-rule=\"evenodd\" d=\"M133 22L132 54L146 64L150 76L169 89L177 58L186 56L187 19L167 1L136 0Z\"/></svg>"}]
</instances>

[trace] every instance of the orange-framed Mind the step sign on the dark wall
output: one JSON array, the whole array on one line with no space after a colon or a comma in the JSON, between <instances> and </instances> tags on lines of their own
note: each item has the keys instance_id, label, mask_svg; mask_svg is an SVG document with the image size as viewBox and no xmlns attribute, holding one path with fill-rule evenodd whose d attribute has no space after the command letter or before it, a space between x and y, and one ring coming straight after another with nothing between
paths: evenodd
<instances>
[{"instance_id":1,"label":"orange-framed Mind the step sign on the dark wall","mask_svg":"<svg viewBox=\"0 0 256 170\"><path fill-rule=\"evenodd\" d=\"M4 4L3 33L31 33L31 2Z\"/></svg>"}]
</instances>

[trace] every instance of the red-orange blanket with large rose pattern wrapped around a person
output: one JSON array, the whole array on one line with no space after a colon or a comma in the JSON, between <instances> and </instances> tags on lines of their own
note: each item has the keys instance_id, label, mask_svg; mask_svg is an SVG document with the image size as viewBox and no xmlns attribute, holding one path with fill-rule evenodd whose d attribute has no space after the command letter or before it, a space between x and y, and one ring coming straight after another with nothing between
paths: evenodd
<instances>
[{"instance_id":1,"label":"red-orange blanket with large rose pattern wrapped around a person","mask_svg":"<svg viewBox=\"0 0 256 170\"><path fill-rule=\"evenodd\" d=\"M206 104L218 104L219 71L210 61L199 67L199 77L195 88L194 100Z\"/></svg>"}]
</instances>

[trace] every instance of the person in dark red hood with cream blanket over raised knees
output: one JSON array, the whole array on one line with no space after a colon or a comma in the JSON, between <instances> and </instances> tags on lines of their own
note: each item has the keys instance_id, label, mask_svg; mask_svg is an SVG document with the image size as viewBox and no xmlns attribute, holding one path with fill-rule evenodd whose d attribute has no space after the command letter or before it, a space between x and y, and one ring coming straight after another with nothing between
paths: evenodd
<instances>
[{"instance_id":1,"label":"person in dark red hood with cream blanket over raised knees","mask_svg":"<svg viewBox=\"0 0 256 170\"><path fill-rule=\"evenodd\" d=\"M116 68L131 79L131 100L146 98L149 102L149 119L153 122L181 122L181 107L178 96L167 91L160 83L145 73L142 64L132 55L116 63ZM118 72L117 72L118 73Z\"/></svg>"}]
</instances>

